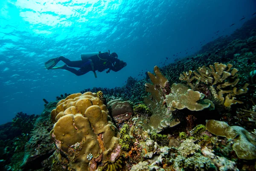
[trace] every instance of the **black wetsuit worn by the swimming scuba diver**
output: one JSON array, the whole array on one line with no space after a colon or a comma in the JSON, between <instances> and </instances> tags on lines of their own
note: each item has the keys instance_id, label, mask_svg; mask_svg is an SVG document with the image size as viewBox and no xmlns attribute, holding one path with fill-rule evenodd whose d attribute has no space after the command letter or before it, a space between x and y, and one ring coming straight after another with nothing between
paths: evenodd
<instances>
[{"instance_id":1,"label":"black wetsuit worn by the swimming scuba diver","mask_svg":"<svg viewBox=\"0 0 256 171\"><path fill-rule=\"evenodd\" d=\"M101 58L101 59L100 59ZM122 69L118 65L120 62L119 59L111 57L108 52L105 53L99 53L98 55L93 55L87 59L80 60L80 61L70 61L67 58L64 58L63 56L59 57L60 61L63 61L67 66L64 66L62 69L68 70L76 75L84 75L89 71L93 71L91 63L93 63L94 71L102 72L106 69L113 70L115 72ZM80 68L79 70L76 70L75 68Z\"/></svg>"}]
</instances>

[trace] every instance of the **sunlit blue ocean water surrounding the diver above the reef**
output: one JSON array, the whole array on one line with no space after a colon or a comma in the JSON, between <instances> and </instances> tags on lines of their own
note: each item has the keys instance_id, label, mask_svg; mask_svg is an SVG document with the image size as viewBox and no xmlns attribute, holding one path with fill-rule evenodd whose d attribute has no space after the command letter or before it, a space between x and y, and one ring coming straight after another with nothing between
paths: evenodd
<instances>
[{"instance_id":1,"label":"sunlit blue ocean water surrounding the diver above the reef","mask_svg":"<svg viewBox=\"0 0 256 171\"><path fill-rule=\"evenodd\" d=\"M0 124L20 111L40 114L42 99L141 79L155 65L230 35L254 12L255 0L1 0ZM98 78L44 69L51 58L80 60L83 52L108 49L127 66Z\"/></svg>"}]
</instances>

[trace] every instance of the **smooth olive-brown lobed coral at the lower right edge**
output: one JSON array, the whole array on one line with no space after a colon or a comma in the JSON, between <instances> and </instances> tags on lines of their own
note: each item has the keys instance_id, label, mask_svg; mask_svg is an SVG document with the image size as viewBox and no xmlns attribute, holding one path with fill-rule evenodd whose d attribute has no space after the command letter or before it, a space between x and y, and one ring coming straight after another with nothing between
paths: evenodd
<instances>
[{"instance_id":1,"label":"smooth olive-brown lobed coral at the lower right edge","mask_svg":"<svg viewBox=\"0 0 256 171\"><path fill-rule=\"evenodd\" d=\"M226 122L209 120L206 129L217 136L234 139L233 150L240 159L256 159L255 137L244 128L230 126Z\"/></svg>"}]
</instances>

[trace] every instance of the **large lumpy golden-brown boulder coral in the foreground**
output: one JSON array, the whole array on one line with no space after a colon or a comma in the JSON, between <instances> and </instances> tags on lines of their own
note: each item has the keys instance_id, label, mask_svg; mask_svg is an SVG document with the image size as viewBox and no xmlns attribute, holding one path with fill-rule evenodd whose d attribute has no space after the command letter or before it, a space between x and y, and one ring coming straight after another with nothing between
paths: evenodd
<instances>
[{"instance_id":1,"label":"large lumpy golden-brown boulder coral in the foreground","mask_svg":"<svg viewBox=\"0 0 256 171\"><path fill-rule=\"evenodd\" d=\"M53 165L89 171L120 156L119 131L96 93L71 94L58 102L51 118L55 124L50 136L58 154Z\"/></svg>"}]
</instances>

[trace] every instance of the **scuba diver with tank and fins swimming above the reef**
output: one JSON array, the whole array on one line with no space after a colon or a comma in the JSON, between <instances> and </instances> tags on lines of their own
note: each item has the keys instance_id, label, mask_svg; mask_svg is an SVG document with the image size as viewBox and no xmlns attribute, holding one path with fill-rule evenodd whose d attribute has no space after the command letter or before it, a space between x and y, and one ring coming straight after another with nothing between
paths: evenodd
<instances>
[{"instance_id":1,"label":"scuba diver with tank and fins swimming above the reef","mask_svg":"<svg viewBox=\"0 0 256 171\"><path fill-rule=\"evenodd\" d=\"M80 61L70 61L67 58L64 58L63 56L60 56L58 58L53 58L44 63L47 70L55 70L55 69L63 69L68 70L76 75L84 75L89 71L93 71L95 78L97 78L96 71L102 72L106 69L108 69L108 72L111 70L117 72L121 70L123 67L126 66L126 62L120 61L118 58L118 55L113 52L93 52L93 53L82 53ZM58 64L59 61L63 61L65 65L62 65L60 67L55 67L56 64ZM80 68L79 70L76 70L75 68Z\"/></svg>"}]
</instances>

